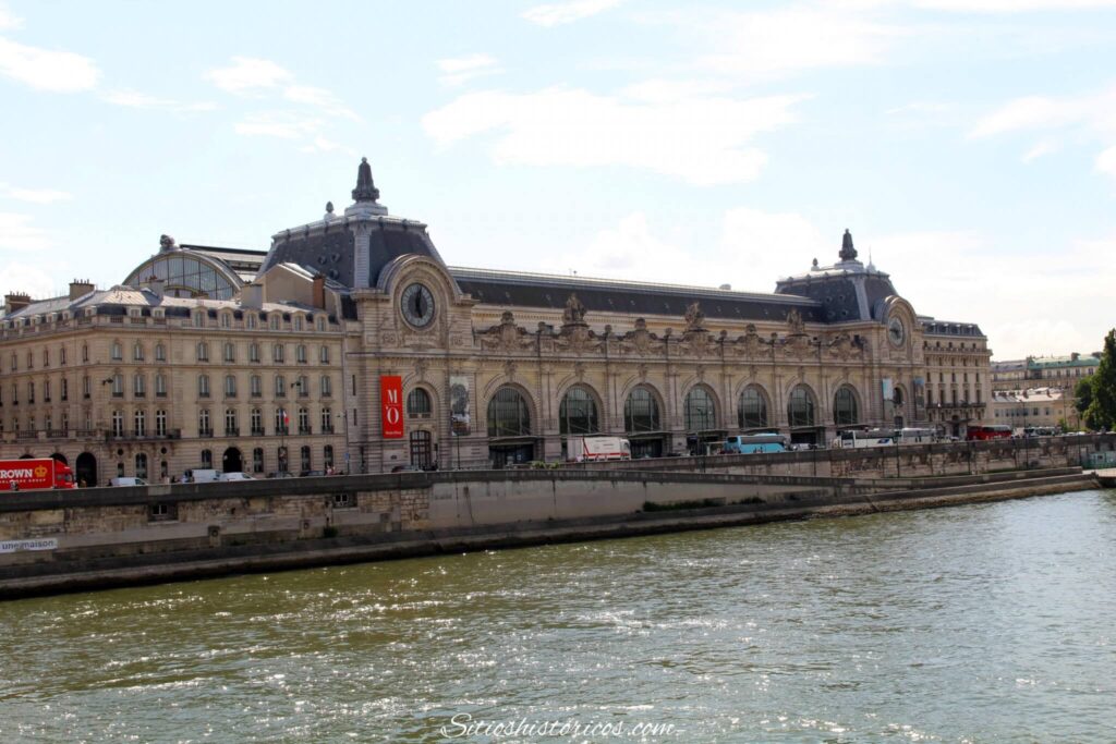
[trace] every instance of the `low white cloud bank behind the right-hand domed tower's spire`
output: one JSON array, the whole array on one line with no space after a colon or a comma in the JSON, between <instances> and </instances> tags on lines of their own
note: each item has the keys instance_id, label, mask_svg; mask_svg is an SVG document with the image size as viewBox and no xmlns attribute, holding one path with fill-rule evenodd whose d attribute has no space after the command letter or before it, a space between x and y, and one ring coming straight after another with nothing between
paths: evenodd
<instances>
[{"instance_id":1,"label":"low white cloud bank behind the right-hand domed tower's spire","mask_svg":"<svg viewBox=\"0 0 1116 744\"><path fill-rule=\"evenodd\" d=\"M668 220L637 212L600 231L584 249L543 259L542 265L555 273L575 268L583 277L730 283L738 291L771 292L780 277L805 272L814 258L833 263L841 229L822 233L801 214L739 207L725 212L720 232L719 240L703 244L691 231L672 232ZM998 359L1091 351L1112 325L1112 274L1096 268L1116 252L1116 236L1070 241L1055 263L1042 255L998 252L987 236L970 231L860 234L864 261L869 245L876 264L917 312L978 323ZM934 271L926 271L927 261ZM1048 303L1021 300L1036 297L1072 297L1075 318L1058 319Z\"/></svg>"}]
</instances>

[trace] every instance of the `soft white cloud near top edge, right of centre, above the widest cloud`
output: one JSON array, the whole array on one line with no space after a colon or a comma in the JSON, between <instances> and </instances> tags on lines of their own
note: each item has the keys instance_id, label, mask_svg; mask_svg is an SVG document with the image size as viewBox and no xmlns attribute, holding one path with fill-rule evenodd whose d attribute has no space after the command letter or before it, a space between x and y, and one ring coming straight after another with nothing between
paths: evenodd
<instances>
[{"instance_id":1,"label":"soft white cloud near top edge, right of centre, above the widest cloud","mask_svg":"<svg viewBox=\"0 0 1116 744\"><path fill-rule=\"evenodd\" d=\"M710 50L699 58L699 67L750 79L882 64L894 44L910 33L864 13L806 6L722 12L696 21L696 28Z\"/></svg>"}]
</instances>

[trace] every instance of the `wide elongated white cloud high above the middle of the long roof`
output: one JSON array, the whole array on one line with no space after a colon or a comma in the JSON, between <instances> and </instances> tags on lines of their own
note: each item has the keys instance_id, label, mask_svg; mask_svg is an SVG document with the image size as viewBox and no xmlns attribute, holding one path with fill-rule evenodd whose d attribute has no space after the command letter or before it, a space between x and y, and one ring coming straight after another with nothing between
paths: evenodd
<instances>
[{"instance_id":1,"label":"wide elongated white cloud high above the middle of the long roof","mask_svg":"<svg viewBox=\"0 0 1116 744\"><path fill-rule=\"evenodd\" d=\"M645 104L586 90L485 91L426 114L441 146L494 133L498 163L591 167L625 165L709 185L754 178L767 155L750 141L797 117L801 96L735 100L687 97Z\"/></svg>"}]
</instances>

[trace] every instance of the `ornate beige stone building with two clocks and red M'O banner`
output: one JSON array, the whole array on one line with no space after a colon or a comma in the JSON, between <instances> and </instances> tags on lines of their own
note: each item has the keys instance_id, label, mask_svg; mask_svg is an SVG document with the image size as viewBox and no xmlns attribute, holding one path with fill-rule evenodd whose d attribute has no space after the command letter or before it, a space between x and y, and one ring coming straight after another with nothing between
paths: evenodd
<instances>
[{"instance_id":1,"label":"ornate beige stone building with two clocks and red M'O banner","mask_svg":"<svg viewBox=\"0 0 1116 744\"><path fill-rule=\"evenodd\" d=\"M46 455L57 442L67 457L88 454L128 474L138 471L141 450L148 474L155 462L172 474L206 462L228 466L215 454L222 447L212 446L224 409L193 390L206 374L215 386L232 375L238 392L254 385L253 374L262 380L258 406L251 394L230 404L235 426L222 443L251 457L244 470L258 472L317 470L329 461L354 472L555 461L570 436L583 434L626 436L636 456L705 452L740 431L825 444L844 427L934 424L959 433L983 417L990 351L979 328L917 315L888 274L858 260L847 231L833 265L815 260L773 293L740 292L450 267L426 225L379 203L367 162L353 199L344 214L329 204L320 220L276 233L266 254L164 244L108 293L89 287L76 298L15 298L3 351L38 358L55 338L97 351L88 370L69 377L70 386L92 381L88 398L68 402L65 425L61 410L47 425L45 410L28 418L22 403L13 415L6 400L3 455ZM196 265L175 269L175 258ZM167 315L172 308L181 315ZM59 312L70 313L65 323ZM137 342L154 354L147 347L160 339L165 361L127 357ZM214 355L233 345L228 371L223 358L198 358L202 342ZM253 345L260 361L250 359ZM296 361L268 356L276 345ZM286 388L267 380L301 378L298 348L314 367L309 392L300 388L310 425L302 438L280 444L272 418L294 406L280 395ZM147 432L157 413L136 399L128 380L150 377L158 364L175 380L167 383L174 394L165 415L179 436L141 442L127 434ZM38 367L3 375L6 394L44 376ZM316 387L319 377L330 380L328 395ZM135 423L141 409L143 428ZM327 417L338 428L326 429ZM279 447L291 453L287 462ZM294 463L304 447L309 458ZM244 454L260 450L259 465Z\"/></svg>"}]
</instances>

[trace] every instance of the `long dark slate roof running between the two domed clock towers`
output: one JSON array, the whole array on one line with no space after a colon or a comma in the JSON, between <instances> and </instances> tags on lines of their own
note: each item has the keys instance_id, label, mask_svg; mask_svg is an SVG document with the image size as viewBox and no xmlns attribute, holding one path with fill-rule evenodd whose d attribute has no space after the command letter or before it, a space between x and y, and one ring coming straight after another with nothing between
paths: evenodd
<instances>
[{"instance_id":1,"label":"long dark slate roof running between the two domed clock towers","mask_svg":"<svg viewBox=\"0 0 1116 744\"><path fill-rule=\"evenodd\" d=\"M680 317L685 313L690 303L696 301L706 318L782 320L791 309L797 309L805 321L824 320L818 302L791 294L760 294L706 287L555 277L460 267L451 267L450 273L461 291L481 302L499 307L559 310L566 307L569 296L576 293L590 312Z\"/></svg>"}]
</instances>

